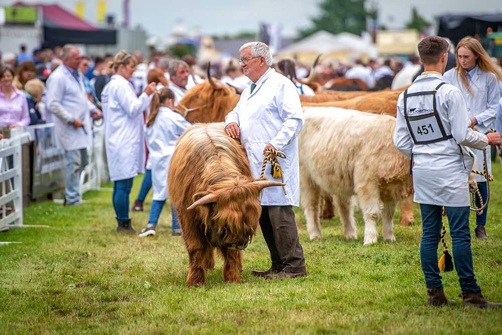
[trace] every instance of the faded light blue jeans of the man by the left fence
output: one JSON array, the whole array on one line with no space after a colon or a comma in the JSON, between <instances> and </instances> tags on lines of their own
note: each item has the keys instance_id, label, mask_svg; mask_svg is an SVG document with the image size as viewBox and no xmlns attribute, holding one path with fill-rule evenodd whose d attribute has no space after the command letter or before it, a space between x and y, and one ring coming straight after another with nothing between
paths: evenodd
<instances>
[{"instance_id":1,"label":"faded light blue jeans of the man by the left fence","mask_svg":"<svg viewBox=\"0 0 502 335\"><path fill-rule=\"evenodd\" d=\"M80 175L87 165L87 149L65 150L66 158L66 204L76 204L80 201Z\"/></svg>"}]
</instances>

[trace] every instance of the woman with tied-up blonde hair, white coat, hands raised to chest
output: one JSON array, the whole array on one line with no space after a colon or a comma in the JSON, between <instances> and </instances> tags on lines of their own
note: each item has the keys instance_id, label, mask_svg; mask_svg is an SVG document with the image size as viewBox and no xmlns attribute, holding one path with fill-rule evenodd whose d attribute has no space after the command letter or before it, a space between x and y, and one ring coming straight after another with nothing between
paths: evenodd
<instances>
[{"instance_id":1,"label":"woman with tied-up blonde hair, white coat, hands raised to chest","mask_svg":"<svg viewBox=\"0 0 502 335\"><path fill-rule=\"evenodd\" d=\"M155 83L136 97L129 81L136 69L136 59L120 51L111 66L115 74L101 93L103 106L106 157L110 179L113 181L113 209L117 232L135 233L129 218L129 194L133 179L145 172L145 133L143 111L155 92Z\"/></svg>"}]
</instances>

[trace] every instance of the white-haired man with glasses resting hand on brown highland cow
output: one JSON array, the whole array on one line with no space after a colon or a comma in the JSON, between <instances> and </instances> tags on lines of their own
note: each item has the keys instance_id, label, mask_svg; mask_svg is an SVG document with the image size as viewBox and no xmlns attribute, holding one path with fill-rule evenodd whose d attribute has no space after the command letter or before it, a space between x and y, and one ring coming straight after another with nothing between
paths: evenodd
<instances>
[{"instance_id":1,"label":"white-haired man with glasses resting hand on brown highland cow","mask_svg":"<svg viewBox=\"0 0 502 335\"><path fill-rule=\"evenodd\" d=\"M306 276L305 258L300 245L292 206L299 206L299 159L297 136L303 126L303 112L295 85L270 68L272 54L262 42L240 48L240 65L251 81L237 106L225 118L225 130L247 151L253 177L261 174L262 159L269 148L283 151L280 159L286 187L262 191L260 226L267 242L272 266L253 271L255 276L282 279ZM265 171L269 179L270 165ZM280 180L277 180L280 181Z\"/></svg>"}]
</instances>

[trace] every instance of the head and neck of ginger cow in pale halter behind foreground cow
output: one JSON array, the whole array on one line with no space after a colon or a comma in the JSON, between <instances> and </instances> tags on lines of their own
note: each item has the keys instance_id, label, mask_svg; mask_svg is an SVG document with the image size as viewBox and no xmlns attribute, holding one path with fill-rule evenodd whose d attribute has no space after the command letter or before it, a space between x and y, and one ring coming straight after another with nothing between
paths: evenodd
<instances>
[{"instance_id":1,"label":"head and neck of ginger cow in pale halter behind foreground cow","mask_svg":"<svg viewBox=\"0 0 502 335\"><path fill-rule=\"evenodd\" d=\"M213 78L217 84L212 86L208 80L202 84L195 85L188 90L183 99L178 103L175 109L184 115L184 108L199 108L189 112L185 118L191 123L200 122L222 122L239 101L240 95L235 93L235 89L223 85L220 81Z\"/></svg>"}]
</instances>

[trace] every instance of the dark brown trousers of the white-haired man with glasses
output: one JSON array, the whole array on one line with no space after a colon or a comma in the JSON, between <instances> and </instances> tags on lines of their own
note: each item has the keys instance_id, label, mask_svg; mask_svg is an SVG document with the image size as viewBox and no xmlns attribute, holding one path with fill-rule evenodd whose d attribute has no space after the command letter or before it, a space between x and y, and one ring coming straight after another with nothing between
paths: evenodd
<instances>
[{"instance_id":1,"label":"dark brown trousers of the white-haired man with glasses","mask_svg":"<svg viewBox=\"0 0 502 335\"><path fill-rule=\"evenodd\" d=\"M292 206L262 206L260 227L270 251L272 269L306 271Z\"/></svg>"}]
</instances>

